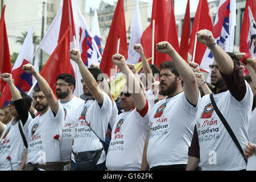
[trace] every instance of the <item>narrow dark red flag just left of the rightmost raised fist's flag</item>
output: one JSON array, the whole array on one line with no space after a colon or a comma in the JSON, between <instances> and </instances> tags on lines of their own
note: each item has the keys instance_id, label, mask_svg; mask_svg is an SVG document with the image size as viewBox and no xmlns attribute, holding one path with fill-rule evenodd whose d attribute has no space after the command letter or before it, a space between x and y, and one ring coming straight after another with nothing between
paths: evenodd
<instances>
[{"instance_id":1,"label":"narrow dark red flag just left of the rightmost raised fist's flag","mask_svg":"<svg viewBox=\"0 0 256 182\"><path fill-rule=\"evenodd\" d=\"M180 56L187 61L188 60L188 46L189 46L189 31L190 31L190 4L189 0L187 3L187 8L184 16L181 40L180 40Z\"/></svg>"}]
</instances>

